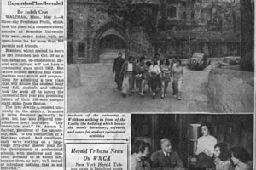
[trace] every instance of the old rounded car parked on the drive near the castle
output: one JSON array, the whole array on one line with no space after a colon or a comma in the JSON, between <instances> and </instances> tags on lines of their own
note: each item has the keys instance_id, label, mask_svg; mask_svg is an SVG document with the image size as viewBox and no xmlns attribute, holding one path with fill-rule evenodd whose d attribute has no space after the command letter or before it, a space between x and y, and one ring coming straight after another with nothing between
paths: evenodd
<instances>
[{"instance_id":1,"label":"old rounded car parked on the drive near the castle","mask_svg":"<svg viewBox=\"0 0 256 170\"><path fill-rule=\"evenodd\" d=\"M189 66L189 69L199 71L199 70L203 70L210 64L211 64L211 60L207 59L206 54L194 53L191 59L189 59L188 66Z\"/></svg>"}]
</instances>

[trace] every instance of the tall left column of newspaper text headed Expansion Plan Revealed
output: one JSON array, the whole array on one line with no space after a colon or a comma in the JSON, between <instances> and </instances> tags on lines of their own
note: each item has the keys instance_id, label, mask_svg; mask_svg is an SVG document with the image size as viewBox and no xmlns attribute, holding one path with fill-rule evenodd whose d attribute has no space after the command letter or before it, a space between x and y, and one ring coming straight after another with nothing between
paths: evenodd
<instances>
[{"instance_id":1,"label":"tall left column of newspaper text headed Expansion Plan Revealed","mask_svg":"<svg viewBox=\"0 0 256 170\"><path fill-rule=\"evenodd\" d=\"M64 1L3 1L1 169L63 167Z\"/></svg>"}]
</instances>

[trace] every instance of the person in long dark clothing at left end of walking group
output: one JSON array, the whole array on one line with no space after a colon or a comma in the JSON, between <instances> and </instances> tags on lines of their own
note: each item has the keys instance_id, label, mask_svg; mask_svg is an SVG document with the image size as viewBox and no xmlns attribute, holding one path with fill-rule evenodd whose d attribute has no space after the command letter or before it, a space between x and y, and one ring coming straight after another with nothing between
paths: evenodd
<instances>
[{"instance_id":1,"label":"person in long dark clothing at left end of walking group","mask_svg":"<svg viewBox=\"0 0 256 170\"><path fill-rule=\"evenodd\" d=\"M116 82L117 88L119 90L121 90L122 82L123 82L123 77L119 77L119 74L122 69L122 66L125 63L125 59L122 58L122 55L123 55L122 53L119 53L119 56L116 59L114 59L114 62L113 62L113 73L115 73L114 81Z\"/></svg>"}]
</instances>

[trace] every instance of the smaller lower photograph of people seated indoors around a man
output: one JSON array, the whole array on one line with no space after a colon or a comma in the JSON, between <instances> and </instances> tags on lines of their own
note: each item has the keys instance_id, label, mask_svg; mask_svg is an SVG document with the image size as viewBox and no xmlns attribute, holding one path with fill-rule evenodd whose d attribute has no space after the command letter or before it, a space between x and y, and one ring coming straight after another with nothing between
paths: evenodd
<instances>
[{"instance_id":1,"label":"smaller lower photograph of people seated indoors around a man","mask_svg":"<svg viewBox=\"0 0 256 170\"><path fill-rule=\"evenodd\" d=\"M253 169L253 114L132 114L131 170Z\"/></svg>"}]
</instances>

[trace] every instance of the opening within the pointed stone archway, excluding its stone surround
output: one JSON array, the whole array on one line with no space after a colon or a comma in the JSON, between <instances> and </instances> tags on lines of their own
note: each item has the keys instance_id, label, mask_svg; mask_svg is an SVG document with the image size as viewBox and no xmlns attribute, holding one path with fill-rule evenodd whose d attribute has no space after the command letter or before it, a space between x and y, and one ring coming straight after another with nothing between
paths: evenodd
<instances>
[{"instance_id":1,"label":"opening within the pointed stone archway, excluding its stone surround","mask_svg":"<svg viewBox=\"0 0 256 170\"><path fill-rule=\"evenodd\" d=\"M99 51L100 63L113 62L119 52L123 54L123 57L125 56L125 42L119 36L107 35L100 40Z\"/></svg>"}]
</instances>

